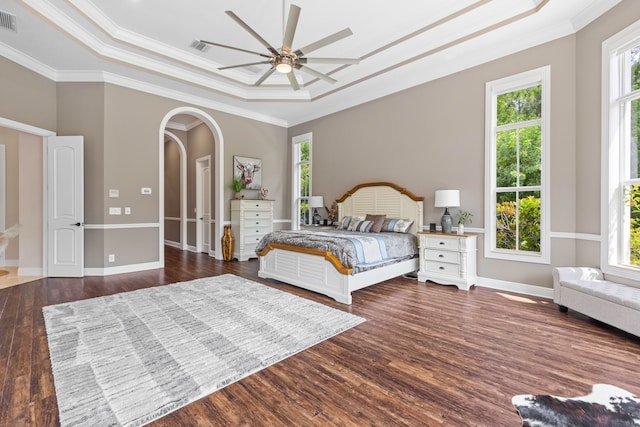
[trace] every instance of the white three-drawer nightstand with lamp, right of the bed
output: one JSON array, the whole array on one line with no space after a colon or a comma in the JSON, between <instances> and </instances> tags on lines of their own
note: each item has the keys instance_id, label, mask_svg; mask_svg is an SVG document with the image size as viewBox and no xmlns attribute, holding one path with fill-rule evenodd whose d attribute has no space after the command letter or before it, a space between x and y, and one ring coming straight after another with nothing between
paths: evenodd
<instances>
[{"instance_id":1,"label":"white three-drawer nightstand with lamp, right of the bed","mask_svg":"<svg viewBox=\"0 0 640 427\"><path fill-rule=\"evenodd\" d=\"M418 281L456 285L464 290L476 284L476 236L443 233L418 233L418 236Z\"/></svg>"}]
</instances>

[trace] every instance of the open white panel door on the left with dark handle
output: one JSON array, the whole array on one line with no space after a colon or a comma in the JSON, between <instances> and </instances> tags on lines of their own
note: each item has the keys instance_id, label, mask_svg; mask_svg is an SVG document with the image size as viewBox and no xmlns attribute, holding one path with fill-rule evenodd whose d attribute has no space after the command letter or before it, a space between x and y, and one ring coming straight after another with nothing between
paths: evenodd
<instances>
[{"instance_id":1,"label":"open white panel door on the left with dark handle","mask_svg":"<svg viewBox=\"0 0 640 427\"><path fill-rule=\"evenodd\" d=\"M82 136L47 139L47 275L84 275Z\"/></svg>"}]
</instances>

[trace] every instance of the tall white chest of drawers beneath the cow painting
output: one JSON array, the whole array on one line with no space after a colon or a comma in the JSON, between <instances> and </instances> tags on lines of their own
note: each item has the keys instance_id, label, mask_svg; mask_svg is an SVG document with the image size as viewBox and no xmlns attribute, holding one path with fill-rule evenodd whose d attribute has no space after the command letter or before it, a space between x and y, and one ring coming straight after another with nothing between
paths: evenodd
<instances>
[{"instance_id":1,"label":"tall white chest of drawers beneath the cow painting","mask_svg":"<svg viewBox=\"0 0 640 427\"><path fill-rule=\"evenodd\" d=\"M231 233L233 257L238 261L257 258L256 246L273 231L273 200L232 200Z\"/></svg>"}]
</instances>

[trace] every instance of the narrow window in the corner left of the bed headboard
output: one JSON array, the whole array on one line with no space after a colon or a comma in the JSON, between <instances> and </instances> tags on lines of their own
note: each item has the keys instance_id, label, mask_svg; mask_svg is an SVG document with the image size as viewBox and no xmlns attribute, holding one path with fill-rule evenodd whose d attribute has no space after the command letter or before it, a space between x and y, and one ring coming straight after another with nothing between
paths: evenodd
<instances>
[{"instance_id":1,"label":"narrow window in the corner left of the bed headboard","mask_svg":"<svg viewBox=\"0 0 640 427\"><path fill-rule=\"evenodd\" d=\"M297 230L300 225L309 224L309 195L311 194L311 134L296 136L292 140L293 158L291 185L292 212L291 229Z\"/></svg>"}]
</instances>

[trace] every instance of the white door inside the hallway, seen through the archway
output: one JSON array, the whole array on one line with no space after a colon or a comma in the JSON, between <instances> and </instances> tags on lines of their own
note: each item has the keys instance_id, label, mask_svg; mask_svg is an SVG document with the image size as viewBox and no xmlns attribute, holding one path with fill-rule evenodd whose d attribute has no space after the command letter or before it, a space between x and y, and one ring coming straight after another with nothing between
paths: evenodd
<instances>
[{"instance_id":1,"label":"white door inside the hallway, seen through the archway","mask_svg":"<svg viewBox=\"0 0 640 427\"><path fill-rule=\"evenodd\" d=\"M196 160L196 250L209 253L211 240L211 158Z\"/></svg>"}]
</instances>

